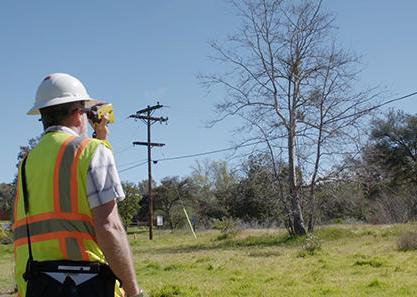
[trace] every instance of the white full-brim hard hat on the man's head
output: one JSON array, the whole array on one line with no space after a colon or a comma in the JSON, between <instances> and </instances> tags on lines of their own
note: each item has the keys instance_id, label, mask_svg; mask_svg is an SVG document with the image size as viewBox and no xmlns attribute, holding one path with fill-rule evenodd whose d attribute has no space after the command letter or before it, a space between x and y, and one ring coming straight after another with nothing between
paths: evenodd
<instances>
[{"instance_id":1,"label":"white full-brim hard hat on the man's head","mask_svg":"<svg viewBox=\"0 0 417 297\"><path fill-rule=\"evenodd\" d=\"M90 98L83 84L66 73L53 73L44 78L36 92L35 104L28 115L40 114L39 109L75 101L86 101L86 106L98 102Z\"/></svg>"}]
</instances>

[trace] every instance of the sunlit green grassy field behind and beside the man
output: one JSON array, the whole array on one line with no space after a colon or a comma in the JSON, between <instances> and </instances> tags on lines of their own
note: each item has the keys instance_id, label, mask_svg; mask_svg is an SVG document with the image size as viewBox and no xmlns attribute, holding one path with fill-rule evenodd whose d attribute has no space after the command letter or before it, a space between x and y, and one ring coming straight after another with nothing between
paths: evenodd
<instances>
[{"instance_id":1,"label":"sunlit green grassy field behind and beside the man","mask_svg":"<svg viewBox=\"0 0 417 297\"><path fill-rule=\"evenodd\" d=\"M416 225L334 225L316 232L321 248L282 230L130 232L141 286L151 297L417 296L417 252L400 252ZM13 282L12 248L0 246L0 295Z\"/></svg>"}]
</instances>

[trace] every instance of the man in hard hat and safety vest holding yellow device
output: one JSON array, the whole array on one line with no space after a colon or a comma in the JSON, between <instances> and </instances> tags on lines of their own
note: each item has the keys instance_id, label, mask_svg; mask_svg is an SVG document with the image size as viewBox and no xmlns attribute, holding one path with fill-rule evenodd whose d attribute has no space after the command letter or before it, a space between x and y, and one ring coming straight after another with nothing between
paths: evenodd
<instances>
[{"instance_id":1,"label":"man in hard hat and safety vest holding yellow device","mask_svg":"<svg viewBox=\"0 0 417 297\"><path fill-rule=\"evenodd\" d=\"M13 227L21 297L26 296L30 250L35 261L107 262L123 286L116 286L115 296L143 296L117 210L125 196L107 142L106 119L93 125L95 139L87 137L86 107L95 103L77 78L54 73L42 81L28 112L41 115L44 134L25 162L28 210L19 168ZM71 284L85 281L71 273L48 275Z\"/></svg>"}]
</instances>

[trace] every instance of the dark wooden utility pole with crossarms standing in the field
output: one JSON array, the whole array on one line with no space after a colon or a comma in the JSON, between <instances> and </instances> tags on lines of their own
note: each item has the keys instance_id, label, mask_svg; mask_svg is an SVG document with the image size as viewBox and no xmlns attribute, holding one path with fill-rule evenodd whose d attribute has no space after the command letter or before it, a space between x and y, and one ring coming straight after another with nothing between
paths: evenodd
<instances>
[{"instance_id":1,"label":"dark wooden utility pole with crossarms standing in the field","mask_svg":"<svg viewBox=\"0 0 417 297\"><path fill-rule=\"evenodd\" d=\"M132 114L129 116L129 118L133 118L135 120L142 120L143 122L146 123L147 128L148 128L148 141L147 142L141 142L141 141L135 141L133 142L133 145L146 145L148 147L148 197L149 197L149 240L153 239L153 231L152 231L152 227L153 227L153 205L154 205L154 199L153 199L153 194L152 194L152 154L151 154L151 150L152 147L157 146L157 147L162 147L165 144L164 143L155 143L155 142L151 142L151 126L154 123L164 123L168 121L168 118L164 118L164 117L153 117L152 114L155 110L162 108L163 105L160 105L159 102L157 102L156 105L154 106L149 106L138 110L135 114Z\"/></svg>"}]
</instances>

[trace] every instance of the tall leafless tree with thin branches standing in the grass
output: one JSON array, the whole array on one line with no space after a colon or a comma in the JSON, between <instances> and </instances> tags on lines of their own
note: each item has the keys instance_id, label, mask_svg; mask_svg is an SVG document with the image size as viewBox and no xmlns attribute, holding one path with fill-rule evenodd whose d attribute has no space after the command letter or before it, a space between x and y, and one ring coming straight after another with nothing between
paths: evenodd
<instances>
[{"instance_id":1,"label":"tall leafless tree with thin branches standing in the grass","mask_svg":"<svg viewBox=\"0 0 417 297\"><path fill-rule=\"evenodd\" d=\"M267 138L266 151L284 158L289 230L302 235L305 215L310 231L315 225L315 185L354 148L373 98L369 90L354 91L358 59L337 46L334 19L321 1L232 3L242 25L223 45L211 43L213 59L230 69L200 77L209 89L226 90L213 124L230 116L245 119L244 141Z\"/></svg>"}]
</instances>

